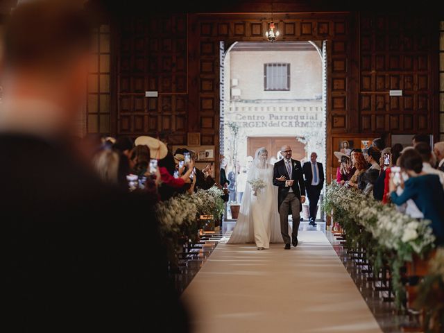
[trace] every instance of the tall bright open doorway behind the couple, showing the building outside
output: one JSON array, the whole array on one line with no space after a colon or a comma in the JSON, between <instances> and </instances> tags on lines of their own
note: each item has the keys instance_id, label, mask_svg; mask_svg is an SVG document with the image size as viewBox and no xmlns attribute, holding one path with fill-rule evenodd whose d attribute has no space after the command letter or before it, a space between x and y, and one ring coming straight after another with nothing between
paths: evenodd
<instances>
[{"instance_id":1,"label":"tall bright open doorway behind the couple, showing the building outside","mask_svg":"<svg viewBox=\"0 0 444 333\"><path fill-rule=\"evenodd\" d=\"M289 144L293 158L303 163L316 152L325 168L326 41L234 42L228 49L221 42L220 57L220 151L234 180L230 191L262 146L271 163Z\"/></svg>"}]
</instances>

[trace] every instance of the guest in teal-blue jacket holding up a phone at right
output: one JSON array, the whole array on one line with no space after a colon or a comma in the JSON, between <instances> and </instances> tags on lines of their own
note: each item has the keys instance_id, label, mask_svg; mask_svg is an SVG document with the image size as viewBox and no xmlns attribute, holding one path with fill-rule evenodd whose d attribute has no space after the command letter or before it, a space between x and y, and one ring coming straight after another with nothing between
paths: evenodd
<instances>
[{"instance_id":1,"label":"guest in teal-blue jacket holding up a phone at right","mask_svg":"<svg viewBox=\"0 0 444 333\"><path fill-rule=\"evenodd\" d=\"M391 173L390 196L395 205L413 199L424 219L432 221L437 244L444 244L444 189L439 176L422 171L422 157L416 149L404 151L400 157L401 174ZM404 180L406 178L406 180ZM399 182L397 184L397 182ZM404 191L398 195L397 187Z\"/></svg>"}]
</instances>

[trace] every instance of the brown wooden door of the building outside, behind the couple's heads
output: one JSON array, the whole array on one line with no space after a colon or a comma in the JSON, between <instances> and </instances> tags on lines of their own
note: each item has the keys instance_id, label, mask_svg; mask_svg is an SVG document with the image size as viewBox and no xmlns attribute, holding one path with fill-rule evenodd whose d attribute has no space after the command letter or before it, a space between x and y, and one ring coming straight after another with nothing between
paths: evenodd
<instances>
[{"instance_id":1,"label":"brown wooden door of the building outside, behind the couple's heads","mask_svg":"<svg viewBox=\"0 0 444 333\"><path fill-rule=\"evenodd\" d=\"M285 144L291 146L295 160L302 160L302 158L306 156L305 144L299 142L296 137L248 137L247 144L248 155L253 157L255 151L261 147L266 148L270 158L273 156L276 157L280 148Z\"/></svg>"}]
</instances>

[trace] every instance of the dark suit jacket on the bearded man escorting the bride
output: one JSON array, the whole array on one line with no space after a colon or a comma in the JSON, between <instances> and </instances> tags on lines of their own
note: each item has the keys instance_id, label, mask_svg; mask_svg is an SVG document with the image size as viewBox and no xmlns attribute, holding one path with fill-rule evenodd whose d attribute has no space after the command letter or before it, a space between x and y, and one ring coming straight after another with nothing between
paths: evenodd
<instances>
[{"instance_id":1,"label":"dark suit jacket on the bearded man escorting the bride","mask_svg":"<svg viewBox=\"0 0 444 333\"><path fill-rule=\"evenodd\" d=\"M291 175L289 175L283 159L276 162L273 169L273 184L278 186L278 208L282 204L282 201L287 197L290 190L290 187L285 186L285 180L281 182L276 179L280 178L280 176L285 176L287 180L294 180L291 189L293 189L294 194L296 194L299 200L301 195L305 196L304 174L300 162L291 159L291 164L293 164ZM300 211L302 212L302 203L300 204Z\"/></svg>"}]
</instances>

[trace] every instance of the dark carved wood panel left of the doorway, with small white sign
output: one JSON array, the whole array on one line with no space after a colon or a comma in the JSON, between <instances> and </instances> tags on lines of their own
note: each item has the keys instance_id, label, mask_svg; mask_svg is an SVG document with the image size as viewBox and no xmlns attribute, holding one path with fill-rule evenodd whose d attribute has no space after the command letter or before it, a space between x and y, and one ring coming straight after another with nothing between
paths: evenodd
<instances>
[{"instance_id":1,"label":"dark carved wood panel left of the doorway, with small white sign","mask_svg":"<svg viewBox=\"0 0 444 333\"><path fill-rule=\"evenodd\" d=\"M117 133L186 144L187 15L128 17L120 26ZM147 90L159 97L147 99Z\"/></svg>"}]
</instances>

